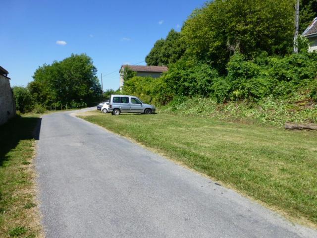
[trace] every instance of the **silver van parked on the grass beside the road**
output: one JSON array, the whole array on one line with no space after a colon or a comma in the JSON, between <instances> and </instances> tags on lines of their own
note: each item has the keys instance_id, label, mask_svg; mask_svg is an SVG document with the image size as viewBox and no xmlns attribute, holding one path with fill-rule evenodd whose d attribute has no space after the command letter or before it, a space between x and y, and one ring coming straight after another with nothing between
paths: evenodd
<instances>
[{"instance_id":1,"label":"silver van parked on the grass beside the road","mask_svg":"<svg viewBox=\"0 0 317 238\"><path fill-rule=\"evenodd\" d=\"M118 116L120 113L155 113L153 105L143 103L138 97L131 95L111 95L108 112Z\"/></svg>"}]
</instances>

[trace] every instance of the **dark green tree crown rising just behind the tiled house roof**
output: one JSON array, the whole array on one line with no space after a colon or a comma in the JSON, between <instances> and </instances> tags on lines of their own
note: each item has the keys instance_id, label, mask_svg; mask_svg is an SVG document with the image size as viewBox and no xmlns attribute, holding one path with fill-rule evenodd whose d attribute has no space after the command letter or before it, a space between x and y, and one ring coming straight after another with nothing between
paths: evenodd
<instances>
[{"instance_id":1,"label":"dark green tree crown rising just behind the tiled house roof","mask_svg":"<svg viewBox=\"0 0 317 238\"><path fill-rule=\"evenodd\" d=\"M171 29L166 39L160 39L145 58L148 65L168 65L175 63L185 52L179 32Z\"/></svg>"}]
</instances>

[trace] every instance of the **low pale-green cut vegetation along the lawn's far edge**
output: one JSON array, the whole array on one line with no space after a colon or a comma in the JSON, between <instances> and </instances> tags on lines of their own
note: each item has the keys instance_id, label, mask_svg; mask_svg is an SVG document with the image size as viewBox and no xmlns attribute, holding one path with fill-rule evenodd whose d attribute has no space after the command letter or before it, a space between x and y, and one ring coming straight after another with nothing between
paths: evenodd
<instances>
[{"instance_id":1,"label":"low pale-green cut vegetation along the lawn's far edge","mask_svg":"<svg viewBox=\"0 0 317 238\"><path fill-rule=\"evenodd\" d=\"M176 103L175 103L176 101ZM317 123L317 104L305 96L278 100L266 97L258 102L248 100L219 104L212 98L182 98L173 100L160 112L177 115L202 115L215 119L244 120L283 127L286 121Z\"/></svg>"}]
</instances>

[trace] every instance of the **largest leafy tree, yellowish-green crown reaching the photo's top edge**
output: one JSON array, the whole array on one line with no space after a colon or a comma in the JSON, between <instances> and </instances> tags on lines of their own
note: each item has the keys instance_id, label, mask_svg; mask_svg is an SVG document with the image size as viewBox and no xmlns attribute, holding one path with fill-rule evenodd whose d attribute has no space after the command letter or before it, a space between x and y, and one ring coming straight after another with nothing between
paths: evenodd
<instances>
[{"instance_id":1,"label":"largest leafy tree, yellowish-green crown reaching the photo's top edge","mask_svg":"<svg viewBox=\"0 0 317 238\"><path fill-rule=\"evenodd\" d=\"M248 59L291 52L293 0L214 0L195 10L184 23L188 53L225 72L235 52Z\"/></svg>"}]
</instances>

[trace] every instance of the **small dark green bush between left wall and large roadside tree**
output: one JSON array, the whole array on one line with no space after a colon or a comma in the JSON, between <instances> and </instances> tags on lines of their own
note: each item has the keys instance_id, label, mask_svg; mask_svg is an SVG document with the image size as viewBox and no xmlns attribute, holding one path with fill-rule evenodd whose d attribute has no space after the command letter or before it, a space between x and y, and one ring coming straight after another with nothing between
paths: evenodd
<instances>
[{"instance_id":1,"label":"small dark green bush between left wall and large roadside tree","mask_svg":"<svg viewBox=\"0 0 317 238\"><path fill-rule=\"evenodd\" d=\"M21 113L25 113L32 108L32 98L29 90L24 87L12 87L15 108Z\"/></svg>"}]
</instances>

